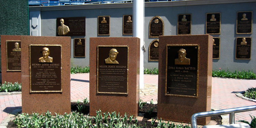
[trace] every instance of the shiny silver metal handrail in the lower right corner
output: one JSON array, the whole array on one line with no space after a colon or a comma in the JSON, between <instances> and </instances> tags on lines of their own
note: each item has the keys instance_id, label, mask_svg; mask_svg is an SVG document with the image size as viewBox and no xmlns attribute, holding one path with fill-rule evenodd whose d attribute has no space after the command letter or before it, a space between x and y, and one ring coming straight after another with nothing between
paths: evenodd
<instances>
[{"instance_id":1,"label":"shiny silver metal handrail in the lower right corner","mask_svg":"<svg viewBox=\"0 0 256 128\"><path fill-rule=\"evenodd\" d=\"M229 124L234 124L235 113L252 111L252 110L256 110L256 105L195 113L191 116L191 128L197 128L197 120L196 120L197 118L225 115L225 114L229 114Z\"/></svg>"}]
</instances>

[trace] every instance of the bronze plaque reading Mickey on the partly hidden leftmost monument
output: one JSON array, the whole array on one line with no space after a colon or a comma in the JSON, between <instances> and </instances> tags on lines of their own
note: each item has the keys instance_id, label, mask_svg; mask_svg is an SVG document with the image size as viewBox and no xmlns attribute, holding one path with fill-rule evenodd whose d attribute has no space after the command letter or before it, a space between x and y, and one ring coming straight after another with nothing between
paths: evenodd
<instances>
[{"instance_id":1,"label":"bronze plaque reading Mickey on the partly hidden leftmost monument","mask_svg":"<svg viewBox=\"0 0 256 128\"><path fill-rule=\"evenodd\" d=\"M21 71L20 41L6 41L6 71Z\"/></svg>"}]
</instances>

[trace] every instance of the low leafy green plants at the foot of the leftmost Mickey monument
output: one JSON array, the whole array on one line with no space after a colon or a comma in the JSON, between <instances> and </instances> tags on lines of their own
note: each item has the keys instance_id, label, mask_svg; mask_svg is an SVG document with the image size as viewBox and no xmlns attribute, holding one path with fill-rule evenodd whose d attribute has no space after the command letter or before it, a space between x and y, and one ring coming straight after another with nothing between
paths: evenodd
<instances>
[{"instance_id":1,"label":"low leafy green plants at the foot of the leftmost Mickey monument","mask_svg":"<svg viewBox=\"0 0 256 128\"><path fill-rule=\"evenodd\" d=\"M4 84L2 84L0 86L0 92L12 92L12 91L21 91L22 85L15 82L14 84L8 82L4 82Z\"/></svg>"}]
</instances>

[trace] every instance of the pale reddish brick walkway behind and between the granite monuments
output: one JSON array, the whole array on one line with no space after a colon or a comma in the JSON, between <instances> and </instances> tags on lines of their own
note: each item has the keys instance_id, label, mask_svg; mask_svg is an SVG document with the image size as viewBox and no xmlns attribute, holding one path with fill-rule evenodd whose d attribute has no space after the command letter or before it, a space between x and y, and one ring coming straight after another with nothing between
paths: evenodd
<instances>
[{"instance_id":1,"label":"pale reddish brick walkway behind and between the granite monuments","mask_svg":"<svg viewBox=\"0 0 256 128\"><path fill-rule=\"evenodd\" d=\"M143 101L153 99L157 103L158 75L144 75L144 89L141 89L140 98ZM152 85L150 87L150 85ZM244 91L249 87L256 87L256 80L212 79L212 104L214 110L236 108L241 106L256 105L256 102L239 98L235 93ZM147 90L148 88L148 90ZM144 96L142 96L144 95ZM0 123L14 109L22 106L21 94L0 96ZM89 98L89 74L71 74L71 101ZM251 122L249 114L256 116L256 111L236 113L236 120Z\"/></svg>"}]
</instances>

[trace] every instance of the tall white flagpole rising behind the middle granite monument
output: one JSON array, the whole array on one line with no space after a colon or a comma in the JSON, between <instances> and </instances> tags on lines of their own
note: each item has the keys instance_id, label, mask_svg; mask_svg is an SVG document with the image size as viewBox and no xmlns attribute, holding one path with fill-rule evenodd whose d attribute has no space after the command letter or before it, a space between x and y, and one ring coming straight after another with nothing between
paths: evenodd
<instances>
[{"instance_id":1,"label":"tall white flagpole rising behind the middle granite monument","mask_svg":"<svg viewBox=\"0 0 256 128\"><path fill-rule=\"evenodd\" d=\"M140 88L144 88L144 63L143 63L143 42L144 42L144 0L133 0L133 37L140 38Z\"/></svg>"}]
</instances>

